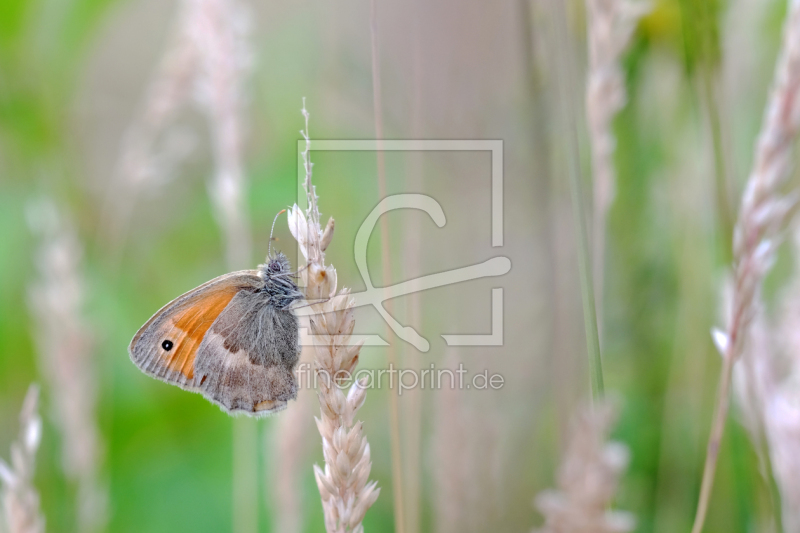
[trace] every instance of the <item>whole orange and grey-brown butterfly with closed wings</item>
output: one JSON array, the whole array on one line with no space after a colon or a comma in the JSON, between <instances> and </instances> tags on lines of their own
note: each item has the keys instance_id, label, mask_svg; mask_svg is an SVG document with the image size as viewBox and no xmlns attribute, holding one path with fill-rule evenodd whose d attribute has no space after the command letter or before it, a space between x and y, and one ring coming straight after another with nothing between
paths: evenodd
<instances>
[{"instance_id":1,"label":"whole orange and grey-brown butterfly with closed wings","mask_svg":"<svg viewBox=\"0 0 800 533\"><path fill-rule=\"evenodd\" d=\"M179 296L128 347L145 374L198 392L229 414L262 416L297 396L303 298L289 260L267 254L257 270L225 274Z\"/></svg>"}]
</instances>

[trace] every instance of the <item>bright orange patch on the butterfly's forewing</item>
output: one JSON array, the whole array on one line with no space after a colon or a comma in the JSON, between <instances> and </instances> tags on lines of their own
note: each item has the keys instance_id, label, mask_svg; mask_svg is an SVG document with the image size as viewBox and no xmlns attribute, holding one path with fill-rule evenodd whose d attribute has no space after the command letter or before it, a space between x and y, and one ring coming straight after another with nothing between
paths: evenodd
<instances>
[{"instance_id":1,"label":"bright orange patch on the butterfly's forewing","mask_svg":"<svg viewBox=\"0 0 800 533\"><path fill-rule=\"evenodd\" d=\"M181 331L173 342L172 351L165 354L164 363L172 371L180 372L186 378L194 378L194 360L197 349L206 336L208 328L239 292L237 287L225 287L210 292L198 299L191 307L172 319L172 324Z\"/></svg>"}]
</instances>

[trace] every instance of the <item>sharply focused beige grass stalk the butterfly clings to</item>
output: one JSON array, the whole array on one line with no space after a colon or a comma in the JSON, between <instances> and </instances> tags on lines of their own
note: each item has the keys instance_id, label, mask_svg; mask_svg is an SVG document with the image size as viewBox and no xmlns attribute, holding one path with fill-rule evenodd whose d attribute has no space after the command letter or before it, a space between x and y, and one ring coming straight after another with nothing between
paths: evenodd
<instances>
[{"instance_id":1,"label":"sharply focused beige grass stalk the butterfly clings to","mask_svg":"<svg viewBox=\"0 0 800 533\"><path fill-rule=\"evenodd\" d=\"M308 210L304 215L295 205L289 212L289 229L308 261L307 268L301 272L305 297L308 301L318 302L309 306L309 325L314 340L314 368L320 405L320 417L316 422L322 437L325 467L314 465L314 475L322 498L327 532L363 533L361 522L364 515L380 494L377 484L368 482L372 467L370 447L363 434L362 422L355 420L366 400L366 383L356 381L347 394L342 387L343 378L352 376L355 371L363 341L350 342L355 327L355 301L347 289L337 293L336 269L333 265L325 265L325 249L333 237L334 225L330 219L323 231L319 224L316 190L311 182L309 114L305 105L303 116L306 148L302 158Z\"/></svg>"}]
</instances>

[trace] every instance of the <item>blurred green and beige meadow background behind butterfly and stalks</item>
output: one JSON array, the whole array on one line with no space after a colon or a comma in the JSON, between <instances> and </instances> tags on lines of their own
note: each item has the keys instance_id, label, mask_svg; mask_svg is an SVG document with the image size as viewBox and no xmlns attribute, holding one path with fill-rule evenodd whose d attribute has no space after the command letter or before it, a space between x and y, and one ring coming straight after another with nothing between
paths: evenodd
<instances>
[{"instance_id":1,"label":"blurred green and beige meadow background behind butterfly and stalks","mask_svg":"<svg viewBox=\"0 0 800 533\"><path fill-rule=\"evenodd\" d=\"M502 391L464 394L469 427L491 435L470 452L481 467L463 465L465 479L484 489L482 505L469 495L460 502L471 524L465 531L490 524L524 531L540 523L532 498L552 485L566 420L589 394L564 171L567 141L552 111L554 65L574 64L583 81L584 12L582 2L564 5L574 54L554 46L556 1L378 2L387 138L416 133L504 141L503 249L490 246L486 154L420 156L418 192L442 204L445 228L436 229L422 214L388 215L394 282L498 252L513 263L499 280L425 293L423 321L415 324L432 343L423 366L440 363L450 349L439 335L488 332L490 288L505 288L505 345L457 353L471 371L488 368L506 378ZM296 200L301 97L312 114L312 139L373 138L374 129L368 2L249 6L255 57L245 165L255 266L266 253L274 214ZM126 241L102 238L102 208L109 190L114 194L121 139L141 112L175 8L158 0L0 3L0 454L16 435L28 384L41 381L27 304L38 244L25 220L26 206L47 196L74 220L84 248L108 531L226 531L232 523L232 419L198 395L145 377L126 353L132 335L161 305L224 272L208 199L209 143L196 114L179 120L194 132L192 151L168 181L138 199ZM785 2L778 0L658 0L625 58L629 102L615 123L618 195L607 238L603 340L607 387L622 407L614 436L632 452L617 505L636 514L637 531L687 530L693 518L720 364L708 332L720 323L729 260L724 213L735 213L751 164L784 14ZM569 95L579 109L582 95L582 85ZM715 128L728 147L721 155L735 192L730 205L721 205L717 194ZM351 250L378 197L374 155L312 157L323 215L337 222L329 259L340 284L363 289ZM387 155L390 193L408 191L409 157ZM413 216L420 217L423 258L409 272L402 239ZM285 223L276 235L279 247L291 248ZM370 242L378 283L378 237ZM406 305L395 304L404 323ZM358 323L362 332L383 331L370 309L359 310ZM365 349L362 365L381 367L385 357L383 349ZM401 365L407 357L401 348ZM63 474L60 437L47 416L52 397L46 387L43 393L36 485L48 529L74 531L76 489ZM433 530L440 512L437 476L456 475L437 466L435 441L446 430L434 416L437 394L422 394L421 459L418 467L406 465L421 472L417 497L425 531ZM374 391L362 410L373 478L383 487L365 521L373 531L393 527L387 406L387 392ZM275 421L252 421L263 452L253 465L260 479L260 531L272 530L277 511L270 502L282 490L274 476L283 460L272 445ZM307 423L306 468L298 474L303 523L306 531L321 531L311 470L314 461L321 463L319 436L310 415ZM706 531L753 531L771 513L751 443L732 423Z\"/></svg>"}]
</instances>

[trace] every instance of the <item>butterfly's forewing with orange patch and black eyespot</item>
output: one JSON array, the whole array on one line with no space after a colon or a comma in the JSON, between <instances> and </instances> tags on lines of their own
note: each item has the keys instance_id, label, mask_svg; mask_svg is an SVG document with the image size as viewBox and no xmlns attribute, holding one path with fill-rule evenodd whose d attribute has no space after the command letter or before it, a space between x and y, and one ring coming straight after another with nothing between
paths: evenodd
<instances>
[{"instance_id":1,"label":"butterfly's forewing with orange patch and black eyespot","mask_svg":"<svg viewBox=\"0 0 800 533\"><path fill-rule=\"evenodd\" d=\"M136 333L128 347L131 360L146 374L199 392L205 376L195 375L195 360L206 333L240 291L261 284L257 271L243 270L179 296Z\"/></svg>"}]
</instances>

